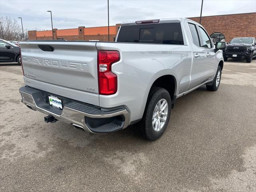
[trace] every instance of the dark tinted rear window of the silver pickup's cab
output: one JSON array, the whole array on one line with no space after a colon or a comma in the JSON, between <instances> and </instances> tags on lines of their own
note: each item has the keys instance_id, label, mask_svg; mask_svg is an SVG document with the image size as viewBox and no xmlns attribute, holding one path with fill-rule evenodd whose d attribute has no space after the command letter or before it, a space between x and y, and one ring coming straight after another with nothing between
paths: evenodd
<instances>
[{"instance_id":1,"label":"dark tinted rear window of the silver pickup's cab","mask_svg":"<svg viewBox=\"0 0 256 192\"><path fill-rule=\"evenodd\" d=\"M180 23L122 26L117 42L184 45Z\"/></svg>"}]
</instances>

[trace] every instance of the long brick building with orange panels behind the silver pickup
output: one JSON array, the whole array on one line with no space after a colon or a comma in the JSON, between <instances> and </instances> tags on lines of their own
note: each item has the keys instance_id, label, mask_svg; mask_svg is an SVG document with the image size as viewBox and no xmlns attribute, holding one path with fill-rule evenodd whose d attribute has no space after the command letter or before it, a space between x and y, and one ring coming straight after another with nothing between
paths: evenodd
<instances>
[{"instance_id":1,"label":"long brick building with orange panels behind the silver pickup","mask_svg":"<svg viewBox=\"0 0 256 192\"><path fill-rule=\"evenodd\" d=\"M189 18L199 22L200 17ZM229 14L217 16L204 16L201 21L209 35L221 34L222 38L229 42L234 37L256 36L256 12ZM110 41L114 41L120 24L110 26ZM108 41L108 27L89 27L84 26L74 29L53 29L54 39L65 40L100 40ZM215 35L216 36L216 35ZM220 35L217 35L220 36ZM222 39L221 38L221 39ZM29 40L50 40L52 30L48 31L28 31Z\"/></svg>"}]
</instances>

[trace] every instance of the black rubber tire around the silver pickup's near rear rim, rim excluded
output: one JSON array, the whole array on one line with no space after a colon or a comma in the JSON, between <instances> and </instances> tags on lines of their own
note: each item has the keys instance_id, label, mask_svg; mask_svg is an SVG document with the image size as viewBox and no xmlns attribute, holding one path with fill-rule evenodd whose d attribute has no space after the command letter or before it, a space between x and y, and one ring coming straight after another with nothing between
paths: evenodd
<instances>
[{"instance_id":1,"label":"black rubber tire around the silver pickup's near rear rim, rim excluded","mask_svg":"<svg viewBox=\"0 0 256 192\"><path fill-rule=\"evenodd\" d=\"M165 99L167 101L168 114L167 114L167 118L166 118L166 122L164 123L164 126L159 131L156 131L154 130L152 125L152 117L153 117L156 104L161 99ZM136 124L136 128L139 129L140 134L144 139L154 141L162 136L170 120L171 105L172 105L171 97L166 89L154 87L150 90L143 118L140 122Z\"/></svg>"}]
</instances>

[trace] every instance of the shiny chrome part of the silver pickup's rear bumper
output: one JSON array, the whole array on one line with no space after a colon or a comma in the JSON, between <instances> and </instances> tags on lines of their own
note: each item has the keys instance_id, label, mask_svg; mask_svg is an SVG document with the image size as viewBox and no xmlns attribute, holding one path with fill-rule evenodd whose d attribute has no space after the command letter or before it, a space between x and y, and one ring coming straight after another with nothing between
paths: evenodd
<instances>
[{"instance_id":1,"label":"shiny chrome part of the silver pickup's rear bumper","mask_svg":"<svg viewBox=\"0 0 256 192\"><path fill-rule=\"evenodd\" d=\"M26 106L28 106L28 108L31 108L32 110L37 110L47 115L52 115L57 120L61 120L68 124L72 124L73 126L80 127L86 132L95 133L94 131L90 130L90 128L86 125L85 117L102 119L102 118L111 118L115 116L124 116L124 124L121 129L124 129L129 125L129 113L126 109L120 110L118 112L113 112L113 113L110 112L109 114L89 114L86 112L82 112L82 111L64 106L61 114L58 115L53 112L50 112L49 110L45 110L37 106L32 94L28 92L24 92L21 89L19 90L19 92L22 96L21 102L24 103ZM99 132L96 132L96 133L99 133ZM104 132L104 133L107 133L107 132Z\"/></svg>"}]
</instances>

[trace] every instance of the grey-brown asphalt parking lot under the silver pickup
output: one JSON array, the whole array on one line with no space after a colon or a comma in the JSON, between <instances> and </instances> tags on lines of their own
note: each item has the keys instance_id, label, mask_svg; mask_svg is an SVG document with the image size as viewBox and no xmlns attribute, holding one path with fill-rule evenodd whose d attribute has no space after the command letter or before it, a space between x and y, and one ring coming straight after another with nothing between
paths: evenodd
<instances>
[{"instance_id":1,"label":"grey-brown asphalt parking lot under the silver pickup","mask_svg":"<svg viewBox=\"0 0 256 192\"><path fill-rule=\"evenodd\" d=\"M228 60L220 88L179 98L165 134L94 135L20 103L21 67L0 64L0 191L256 191L256 60Z\"/></svg>"}]
</instances>

